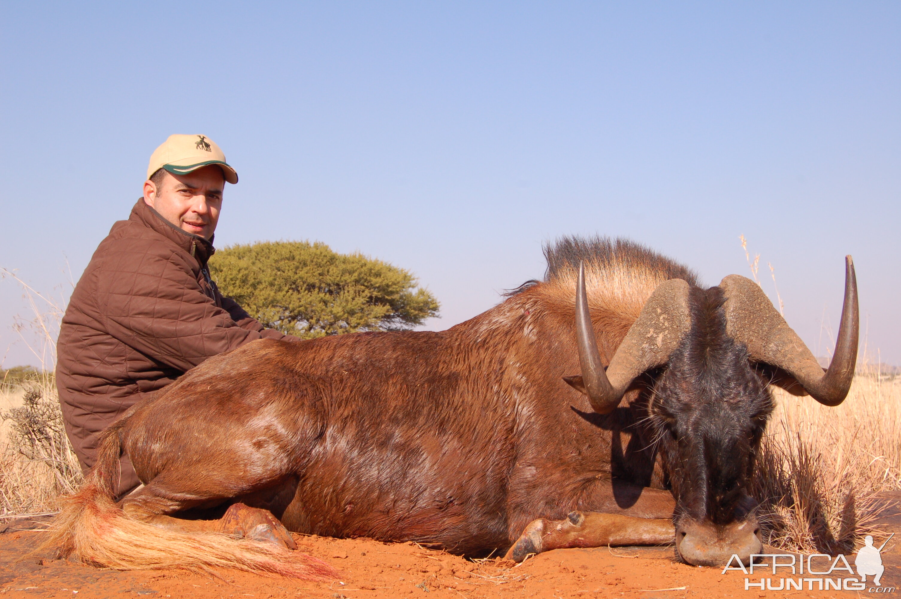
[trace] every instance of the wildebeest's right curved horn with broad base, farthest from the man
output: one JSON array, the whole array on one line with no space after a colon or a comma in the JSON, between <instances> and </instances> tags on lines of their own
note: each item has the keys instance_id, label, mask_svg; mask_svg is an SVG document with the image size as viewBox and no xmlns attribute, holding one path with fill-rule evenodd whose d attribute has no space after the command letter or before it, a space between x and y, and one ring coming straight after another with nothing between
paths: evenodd
<instances>
[{"instance_id":1,"label":"wildebeest's right curved horn with broad base, farthest from the man","mask_svg":"<svg viewBox=\"0 0 901 599\"><path fill-rule=\"evenodd\" d=\"M751 359L785 370L821 404L842 403L851 389L860 333L857 277L851 256L845 257L845 297L839 337L825 373L760 286L748 278L730 275L720 287L726 297L726 332L745 344Z\"/></svg>"}]
</instances>

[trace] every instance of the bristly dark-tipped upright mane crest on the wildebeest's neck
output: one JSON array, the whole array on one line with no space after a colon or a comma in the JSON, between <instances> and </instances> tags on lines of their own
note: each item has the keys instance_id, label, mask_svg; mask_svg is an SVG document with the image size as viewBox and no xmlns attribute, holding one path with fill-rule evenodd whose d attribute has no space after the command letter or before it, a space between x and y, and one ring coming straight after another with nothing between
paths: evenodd
<instances>
[{"instance_id":1,"label":"bristly dark-tipped upright mane crest on the wildebeest's neck","mask_svg":"<svg viewBox=\"0 0 901 599\"><path fill-rule=\"evenodd\" d=\"M660 272L664 279L681 278L691 286L698 286L698 277L693 270L640 243L622 238L595 236L585 239L567 235L552 243L545 243L544 258L548 262L544 274L546 281L565 272L578 270L579 260L584 260L586 265L593 264L601 270L614 265L642 266Z\"/></svg>"}]
</instances>

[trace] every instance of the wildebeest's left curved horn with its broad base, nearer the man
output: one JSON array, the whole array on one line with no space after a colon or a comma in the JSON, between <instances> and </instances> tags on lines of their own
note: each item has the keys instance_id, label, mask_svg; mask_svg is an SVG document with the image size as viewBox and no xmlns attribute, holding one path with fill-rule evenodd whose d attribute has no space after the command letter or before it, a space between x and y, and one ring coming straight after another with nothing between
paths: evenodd
<instances>
[{"instance_id":1,"label":"wildebeest's left curved horn with its broad base, nearer the man","mask_svg":"<svg viewBox=\"0 0 901 599\"><path fill-rule=\"evenodd\" d=\"M576 287L576 338L582 376L564 377L563 380L587 395L596 413L611 413L634 378L648 368L666 363L690 327L688 284L678 278L661 283L645 302L642 313L626 333L605 372L588 310L585 266L580 263Z\"/></svg>"}]
</instances>

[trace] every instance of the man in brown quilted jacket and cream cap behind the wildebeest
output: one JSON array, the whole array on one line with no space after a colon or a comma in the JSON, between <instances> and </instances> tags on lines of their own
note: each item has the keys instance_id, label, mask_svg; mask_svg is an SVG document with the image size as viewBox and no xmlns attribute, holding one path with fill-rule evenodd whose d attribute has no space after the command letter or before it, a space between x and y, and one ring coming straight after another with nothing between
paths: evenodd
<instances>
[{"instance_id":1,"label":"man in brown quilted jacket and cream cap behind the wildebeest","mask_svg":"<svg viewBox=\"0 0 901 599\"><path fill-rule=\"evenodd\" d=\"M101 241L69 300L57 344L57 387L81 467L96 434L142 397L265 329L216 288L213 255L225 182L238 174L204 135L172 135L150 156L144 195ZM140 481L122 459L120 495Z\"/></svg>"}]
</instances>

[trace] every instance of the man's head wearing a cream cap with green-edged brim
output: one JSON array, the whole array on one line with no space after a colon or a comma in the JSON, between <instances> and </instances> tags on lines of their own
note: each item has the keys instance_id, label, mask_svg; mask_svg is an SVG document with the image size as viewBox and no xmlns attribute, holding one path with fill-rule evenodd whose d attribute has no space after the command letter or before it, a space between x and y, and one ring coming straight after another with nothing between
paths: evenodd
<instances>
[{"instance_id":1,"label":"man's head wearing a cream cap with green-edged brim","mask_svg":"<svg viewBox=\"0 0 901 599\"><path fill-rule=\"evenodd\" d=\"M182 231L213 237L225 182L238 174L205 135L170 135L150 156L144 202Z\"/></svg>"}]
</instances>

